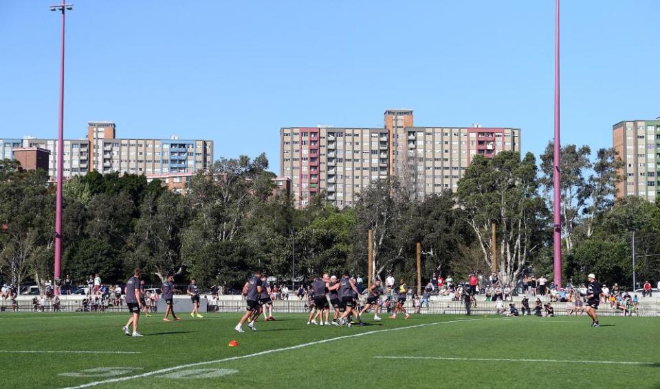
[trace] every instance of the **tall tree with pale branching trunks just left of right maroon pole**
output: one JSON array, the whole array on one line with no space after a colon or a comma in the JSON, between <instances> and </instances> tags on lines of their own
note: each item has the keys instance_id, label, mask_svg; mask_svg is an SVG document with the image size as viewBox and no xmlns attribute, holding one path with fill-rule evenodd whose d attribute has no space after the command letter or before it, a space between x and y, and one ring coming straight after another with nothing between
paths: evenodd
<instances>
[{"instance_id":1,"label":"tall tree with pale branching trunks just left of right maroon pole","mask_svg":"<svg viewBox=\"0 0 660 389\"><path fill-rule=\"evenodd\" d=\"M529 255L542 241L547 209L538 196L536 161L531 153L520 160L517 152L500 152L493 158L475 156L459 180L456 198L467 214L487 268L492 266L491 225L498 229L498 272L513 283Z\"/></svg>"}]
</instances>

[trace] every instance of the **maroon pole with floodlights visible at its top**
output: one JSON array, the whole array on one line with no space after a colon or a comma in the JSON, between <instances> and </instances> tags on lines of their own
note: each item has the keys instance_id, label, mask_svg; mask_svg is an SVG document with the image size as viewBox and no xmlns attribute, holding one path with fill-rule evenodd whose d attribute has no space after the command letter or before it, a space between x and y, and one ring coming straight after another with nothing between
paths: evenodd
<instances>
[{"instance_id":1,"label":"maroon pole with floodlights visible at its top","mask_svg":"<svg viewBox=\"0 0 660 389\"><path fill-rule=\"evenodd\" d=\"M73 10L73 4L51 5L51 11L62 12L62 53L60 65L60 123L57 142L57 195L55 208L55 280L60 279L62 259L62 180L64 175L64 22L67 11ZM58 281L56 281L57 283Z\"/></svg>"}]
</instances>

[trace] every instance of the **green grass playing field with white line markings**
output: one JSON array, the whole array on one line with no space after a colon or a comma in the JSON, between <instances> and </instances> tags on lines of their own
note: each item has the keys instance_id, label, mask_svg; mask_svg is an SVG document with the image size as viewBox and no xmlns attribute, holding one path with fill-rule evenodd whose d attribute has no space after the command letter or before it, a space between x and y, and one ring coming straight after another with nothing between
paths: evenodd
<instances>
[{"instance_id":1,"label":"green grass playing field with white line markings","mask_svg":"<svg viewBox=\"0 0 660 389\"><path fill-rule=\"evenodd\" d=\"M654 318L602 318L602 327L592 329L586 316L373 322L369 315L370 325L337 328L282 314L259 322L259 331L236 333L237 314L184 315L170 323L159 314L141 319L144 338L129 338L121 331L127 316L0 314L0 383L328 388L342 379L351 388L660 387L660 319ZM230 340L239 346L229 347Z\"/></svg>"}]
</instances>

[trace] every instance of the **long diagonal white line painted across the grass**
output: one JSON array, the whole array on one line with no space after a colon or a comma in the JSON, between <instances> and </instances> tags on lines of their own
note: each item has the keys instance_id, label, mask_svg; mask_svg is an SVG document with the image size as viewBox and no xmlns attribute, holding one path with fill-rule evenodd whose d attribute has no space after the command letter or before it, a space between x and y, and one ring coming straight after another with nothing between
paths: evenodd
<instances>
[{"instance_id":1,"label":"long diagonal white line painted across the grass","mask_svg":"<svg viewBox=\"0 0 660 389\"><path fill-rule=\"evenodd\" d=\"M228 358L222 358L222 359L214 359L212 361L206 361L206 362L196 362L196 363L193 363L193 364L184 364L184 365L179 365L179 366L172 366L172 367L169 367L169 368L162 368L162 369L159 369L159 370L149 371L147 373L142 373L142 374L137 374L137 375L129 375L127 377L104 379L102 381L89 382L89 384L83 384L83 385L80 385L80 386L69 386L69 387L64 388L64 389L80 389L80 388L89 388L90 386L98 386L98 385L103 385L103 384L113 384L115 382L128 381L129 379L144 378L144 377L149 377L151 375L169 373L170 371L179 370L181 368L190 368L190 367L203 366L203 365L208 365L208 364L219 364L221 362L235 361L237 359L246 359L246 358L251 358L251 357L259 357L261 355L267 355L267 354L272 354L272 353L280 353L282 351L291 351L291 350L296 350L296 349L302 349L303 347L314 346L316 344L323 344L323 343L328 343L328 342L334 342L336 340L349 339L349 338L358 338L359 336L371 335L372 333L383 333L383 332L390 332L390 331L399 331L399 330L402 330L402 329L428 327L428 326L432 326L432 325L443 325L443 324L449 324L449 323L453 323L453 322L469 322L469 321L472 321L472 320L487 320L487 319L448 320L446 322L434 322L434 323L426 323L426 324L421 324L421 325L410 325L410 326L407 326L407 327L398 327L398 328L391 328L391 329L377 329L375 331L355 333L353 335L338 336L337 338L329 338L329 339L324 339L324 340L318 340L316 342L296 344L296 346L283 347L281 349L272 349L272 350L260 351L259 353L252 353L252 354L248 354L248 355L239 355L237 357L228 357Z\"/></svg>"}]
</instances>

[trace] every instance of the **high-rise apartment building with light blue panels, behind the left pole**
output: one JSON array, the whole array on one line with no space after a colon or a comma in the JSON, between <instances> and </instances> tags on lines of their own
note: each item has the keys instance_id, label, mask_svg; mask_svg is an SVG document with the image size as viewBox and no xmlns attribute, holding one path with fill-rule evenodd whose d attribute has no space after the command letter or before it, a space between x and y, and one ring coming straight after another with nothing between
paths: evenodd
<instances>
[{"instance_id":1,"label":"high-rise apartment building with light blue panels, behind the left pole","mask_svg":"<svg viewBox=\"0 0 660 389\"><path fill-rule=\"evenodd\" d=\"M0 139L0 158L13 158L14 148L50 150L48 171L57 176L57 139ZM87 139L64 140L64 178L87 172L146 174L196 172L213 163L213 141L119 139L115 123L90 121Z\"/></svg>"}]
</instances>

